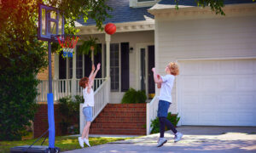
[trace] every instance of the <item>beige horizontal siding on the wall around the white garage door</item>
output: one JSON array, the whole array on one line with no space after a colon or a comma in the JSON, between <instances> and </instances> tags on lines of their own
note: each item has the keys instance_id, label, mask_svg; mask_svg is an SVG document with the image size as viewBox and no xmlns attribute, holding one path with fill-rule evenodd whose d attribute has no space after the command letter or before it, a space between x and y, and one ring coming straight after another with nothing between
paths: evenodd
<instances>
[{"instance_id":1,"label":"beige horizontal siding on the wall around the white garage door","mask_svg":"<svg viewBox=\"0 0 256 153\"><path fill-rule=\"evenodd\" d=\"M156 67L161 74L177 59L256 57L255 16L156 22ZM170 111L176 113L173 90Z\"/></svg>"}]
</instances>

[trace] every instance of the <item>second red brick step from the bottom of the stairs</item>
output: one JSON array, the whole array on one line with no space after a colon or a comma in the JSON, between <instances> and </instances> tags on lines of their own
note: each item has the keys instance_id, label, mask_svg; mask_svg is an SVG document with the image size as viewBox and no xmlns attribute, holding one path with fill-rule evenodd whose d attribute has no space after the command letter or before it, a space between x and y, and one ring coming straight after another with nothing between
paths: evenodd
<instances>
[{"instance_id":1,"label":"second red brick step from the bottom of the stairs","mask_svg":"<svg viewBox=\"0 0 256 153\"><path fill-rule=\"evenodd\" d=\"M123 122L119 122L119 123L102 123L102 122L98 122L98 123L93 123L91 124L90 127L96 127L96 128L135 128L135 129L140 129L140 128L144 128L146 125L146 123L123 123Z\"/></svg>"}]
</instances>

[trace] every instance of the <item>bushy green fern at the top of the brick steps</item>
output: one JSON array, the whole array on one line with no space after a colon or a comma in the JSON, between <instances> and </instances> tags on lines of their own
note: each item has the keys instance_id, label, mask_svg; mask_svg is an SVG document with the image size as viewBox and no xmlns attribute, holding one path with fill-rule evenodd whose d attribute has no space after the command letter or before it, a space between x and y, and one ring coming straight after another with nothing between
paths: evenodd
<instances>
[{"instance_id":1,"label":"bushy green fern at the top of the brick steps","mask_svg":"<svg viewBox=\"0 0 256 153\"><path fill-rule=\"evenodd\" d=\"M146 99L147 96L145 94L145 91L136 91L134 88L129 88L129 90L125 92L125 95L122 99L122 104L145 103Z\"/></svg>"}]
</instances>

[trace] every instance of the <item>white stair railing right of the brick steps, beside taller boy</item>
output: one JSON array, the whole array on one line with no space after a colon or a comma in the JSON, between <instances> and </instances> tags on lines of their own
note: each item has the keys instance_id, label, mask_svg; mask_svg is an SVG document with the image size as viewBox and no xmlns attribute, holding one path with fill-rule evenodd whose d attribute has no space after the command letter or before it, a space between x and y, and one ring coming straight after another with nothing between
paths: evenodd
<instances>
[{"instance_id":1,"label":"white stair railing right of the brick steps, beside taller boy","mask_svg":"<svg viewBox=\"0 0 256 153\"><path fill-rule=\"evenodd\" d=\"M147 135L152 131L151 121L154 120L157 116L158 109L158 98L154 96L154 99L147 104Z\"/></svg>"}]
</instances>

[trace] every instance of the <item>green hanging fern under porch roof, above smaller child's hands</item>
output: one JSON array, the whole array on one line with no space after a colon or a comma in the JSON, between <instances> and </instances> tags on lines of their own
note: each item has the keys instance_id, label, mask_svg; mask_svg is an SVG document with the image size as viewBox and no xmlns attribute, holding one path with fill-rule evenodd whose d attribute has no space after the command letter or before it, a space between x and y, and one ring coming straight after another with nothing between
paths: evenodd
<instances>
[{"instance_id":1,"label":"green hanging fern under porch roof, above smaller child's hands","mask_svg":"<svg viewBox=\"0 0 256 153\"><path fill-rule=\"evenodd\" d=\"M94 65L94 55L99 52L98 41L98 38L90 36L78 49L79 54L90 54L91 65Z\"/></svg>"}]
</instances>

